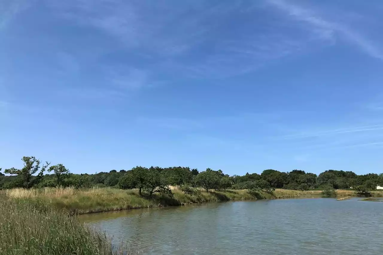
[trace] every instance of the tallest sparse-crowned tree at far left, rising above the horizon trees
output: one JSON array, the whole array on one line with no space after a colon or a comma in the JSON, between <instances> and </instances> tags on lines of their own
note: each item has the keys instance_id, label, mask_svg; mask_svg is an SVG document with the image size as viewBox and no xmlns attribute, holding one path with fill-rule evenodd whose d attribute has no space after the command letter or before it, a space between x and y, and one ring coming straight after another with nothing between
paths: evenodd
<instances>
[{"instance_id":1,"label":"tallest sparse-crowned tree at far left, rising above the horizon trees","mask_svg":"<svg viewBox=\"0 0 383 255\"><path fill-rule=\"evenodd\" d=\"M5 173L9 173L11 175L19 175L23 180L23 187L26 189L31 188L33 185L39 183L41 178L44 175L44 171L49 166L50 163L46 162L46 164L40 167L41 161L36 159L35 157L23 157L24 167L21 169L16 169L14 167L5 169ZM38 172L36 177L33 175Z\"/></svg>"}]
</instances>

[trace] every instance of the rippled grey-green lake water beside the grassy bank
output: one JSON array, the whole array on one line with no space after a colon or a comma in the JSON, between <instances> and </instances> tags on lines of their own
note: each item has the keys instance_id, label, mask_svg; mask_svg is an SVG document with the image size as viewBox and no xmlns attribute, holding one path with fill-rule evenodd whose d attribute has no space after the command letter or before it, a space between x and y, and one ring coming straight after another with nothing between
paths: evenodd
<instances>
[{"instance_id":1,"label":"rippled grey-green lake water beside the grassy bank","mask_svg":"<svg viewBox=\"0 0 383 255\"><path fill-rule=\"evenodd\" d=\"M358 199L235 201L80 219L144 254L383 254L383 203Z\"/></svg>"}]
</instances>

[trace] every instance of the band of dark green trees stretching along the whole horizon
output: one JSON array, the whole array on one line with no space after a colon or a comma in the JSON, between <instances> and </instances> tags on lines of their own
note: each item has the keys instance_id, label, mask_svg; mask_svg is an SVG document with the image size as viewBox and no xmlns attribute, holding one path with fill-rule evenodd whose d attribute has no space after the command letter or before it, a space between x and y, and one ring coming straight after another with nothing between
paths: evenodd
<instances>
[{"instance_id":1,"label":"band of dark green trees stretching along the whole horizon","mask_svg":"<svg viewBox=\"0 0 383 255\"><path fill-rule=\"evenodd\" d=\"M43 188L72 186L75 188L115 187L120 189L137 188L139 194L152 196L153 193L171 194L169 186L180 186L185 193L197 192L195 187L206 191L211 189L225 190L249 189L270 191L275 188L289 190L310 189L349 189L375 190L383 186L383 173L357 175L342 170L327 170L316 175L303 170L279 172L264 170L261 174L229 176L221 170L207 168L203 172L189 167L141 167L130 170L111 170L95 174L74 174L64 165L42 163L36 157L23 157L22 168L0 168L0 189L10 188ZM46 173L47 172L47 173Z\"/></svg>"}]
</instances>

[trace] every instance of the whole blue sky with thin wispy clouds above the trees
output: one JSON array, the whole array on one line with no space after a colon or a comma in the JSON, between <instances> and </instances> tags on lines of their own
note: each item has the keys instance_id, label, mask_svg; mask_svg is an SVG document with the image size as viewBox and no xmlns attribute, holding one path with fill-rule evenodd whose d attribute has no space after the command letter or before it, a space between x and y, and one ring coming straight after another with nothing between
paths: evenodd
<instances>
[{"instance_id":1,"label":"whole blue sky with thin wispy clouds above the trees","mask_svg":"<svg viewBox=\"0 0 383 255\"><path fill-rule=\"evenodd\" d=\"M381 173L382 11L0 0L0 167Z\"/></svg>"}]
</instances>

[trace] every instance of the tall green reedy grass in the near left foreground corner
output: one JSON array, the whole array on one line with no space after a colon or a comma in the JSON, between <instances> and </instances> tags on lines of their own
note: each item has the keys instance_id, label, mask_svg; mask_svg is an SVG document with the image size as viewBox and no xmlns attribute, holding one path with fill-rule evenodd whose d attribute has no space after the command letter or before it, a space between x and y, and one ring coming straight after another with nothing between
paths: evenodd
<instances>
[{"instance_id":1,"label":"tall green reedy grass in the near left foreground corner","mask_svg":"<svg viewBox=\"0 0 383 255\"><path fill-rule=\"evenodd\" d=\"M113 255L105 234L38 200L0 195L0 255Z\"/></svg>"}]
</instances>

